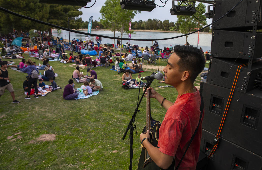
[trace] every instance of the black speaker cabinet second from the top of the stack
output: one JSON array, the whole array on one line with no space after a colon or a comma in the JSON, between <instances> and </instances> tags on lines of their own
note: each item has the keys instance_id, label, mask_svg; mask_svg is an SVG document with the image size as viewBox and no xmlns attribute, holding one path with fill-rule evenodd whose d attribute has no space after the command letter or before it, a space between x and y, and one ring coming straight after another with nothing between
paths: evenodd
<instances>
[{"instance_id":1,"label":"black speaker cabinet second from the top of the stack","mask_svg":"<svg viewBox=\"0 0 262 170\"><path fill-rule=\"evenodd\" d=\"M262 56L262 33L212 30L211 57L253 59Z\"/></svg>"}]
</instances>

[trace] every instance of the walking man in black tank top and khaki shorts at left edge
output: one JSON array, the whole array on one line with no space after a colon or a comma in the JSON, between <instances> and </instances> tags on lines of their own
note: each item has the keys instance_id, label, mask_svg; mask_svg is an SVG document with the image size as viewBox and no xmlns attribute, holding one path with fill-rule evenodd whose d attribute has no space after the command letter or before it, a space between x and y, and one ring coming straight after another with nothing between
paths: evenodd
<instances>
[{"instance_id":1,"label":"walking man in black tank top and khaki shorts at left edge","mask_svg":"<svg viewBox=\"0 0 262 170\"><path fill-rule=\"evenodd\" d=\"M13 98L13 103L19 103L20 101L15 100L15 94L12 84L9 82L7 61L0 61L0 97L4 94L7 89Z\"/></svg>"}]
</instances>

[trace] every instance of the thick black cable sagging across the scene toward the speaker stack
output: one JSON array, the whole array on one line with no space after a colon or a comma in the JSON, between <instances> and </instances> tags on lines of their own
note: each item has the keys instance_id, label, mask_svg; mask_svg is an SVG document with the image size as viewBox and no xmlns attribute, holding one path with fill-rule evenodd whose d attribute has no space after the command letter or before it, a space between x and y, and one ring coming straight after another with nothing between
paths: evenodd
<instances>
[{"instance_id":1,"label":"thick black cable sagging across the scene toward the speaker stack","mask_svg":"<svg viewBox=\"0 0 262 170\"><path fill-rule=\"evenodd\" d=\"M121 40L131 40L131 41L161 41L161 40L167 40L167 39L174 39L174 38L180 38L180 37L184 37L184 36L188 36L188 35L191 35L193 33L196 33L198 31L201 31L207 27L209 27L210 25L214 24L215 22L219 21L221 18L223 18L224 16L226 16L228 13L230 13L234 8L237 7L237 5L239 3L241 3L243 0L240 0L232 9L230 9L226 14L224 14L223 16L221 16L219 19L215 20L214 22L212 22L211 24L199 29L199 30L196 30L196 31L193 31L193 32L190 32L190 33L187 33L187 34L183 34L183 35L180 35L180 36L175 36L175 37L170 37L170 38L159 38L159 39L137 39L137 38L118 38L118 37L109 37L109 36L104 36L104 35L98 35L98 34L91 34L91 33L85 33L85 32L81 32L81 31L77 31L77 30L71 30L71 29L68 29L68 28L64 28L64 27L61 27L61 26L57 26L57 25L54 25L54 24L50 24L50 23L47 23L47 22L43 22L43 21L39 21L37 19L34 19L34 18L30 18L28 16L24 16L24 15L21 15L21 14L18 14L18 13L15 13L15 12L12 12L10 10L7 10L5 8L2 8L0 7L0 10L4 11L4 12L7 12L9 14L12 14L12 15L15 15L15 16L19 16L21 18L25 18L25 19L28 19L28 20L31 20L31 21L35 21L35 22L38 22L40 24L44 24L44 25L48 25L48 26L51 26L51 27L55 27L55 28L59 28L61 30L65 30L65 31L70 31L70 32L74 32L74 33L78 33L78 34L83 34L83 35L90 35L90 36L94 36L94 37L103 37L103 38L110 38L110 39L121 39Z\"/></svg>"}]
</instances>

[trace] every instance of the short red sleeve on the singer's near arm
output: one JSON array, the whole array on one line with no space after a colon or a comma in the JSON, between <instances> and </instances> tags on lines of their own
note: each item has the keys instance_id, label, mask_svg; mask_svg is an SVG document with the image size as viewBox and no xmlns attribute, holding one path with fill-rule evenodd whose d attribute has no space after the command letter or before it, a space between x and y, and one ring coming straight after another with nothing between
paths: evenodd
<instances>
[{"instance_id":1,"label":"short red sleeve on the singer's near arm","mask_svg":"<svg viewBox=\"0 0 262 170\"><path fill-rule=\"evenodd\" d=\"M159 133L159 141L157 144L159 151L169 156L175 156L182 137L182 124L178 120L165 118L159 131L161 132Z\"/></svg>"}]
</instances>

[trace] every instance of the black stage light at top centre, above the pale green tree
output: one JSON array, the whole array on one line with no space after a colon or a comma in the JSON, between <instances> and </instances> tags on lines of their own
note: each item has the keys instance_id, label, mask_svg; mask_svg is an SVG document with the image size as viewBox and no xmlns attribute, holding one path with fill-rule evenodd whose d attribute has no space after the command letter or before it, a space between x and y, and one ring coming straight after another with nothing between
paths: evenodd
<instances>
[{"instance_id":1,"label":"black stage light at top centre, above the pale green tree","mask_svg":"<svg viewBox=\"0 0 262 170\"><path fill-rule=\"evenodd\" d=\"M138 11L152 11L156 8L155 0L120 0L120 5L122 9L131 9Z\"/></svg>"}]
</instances>

